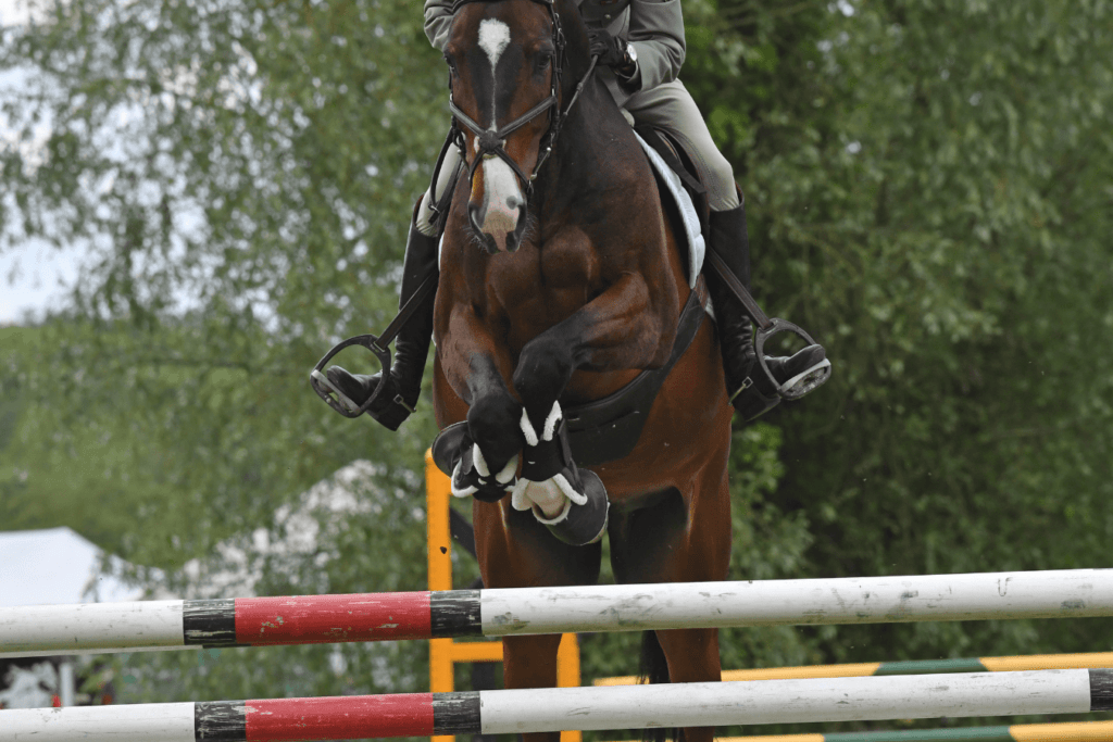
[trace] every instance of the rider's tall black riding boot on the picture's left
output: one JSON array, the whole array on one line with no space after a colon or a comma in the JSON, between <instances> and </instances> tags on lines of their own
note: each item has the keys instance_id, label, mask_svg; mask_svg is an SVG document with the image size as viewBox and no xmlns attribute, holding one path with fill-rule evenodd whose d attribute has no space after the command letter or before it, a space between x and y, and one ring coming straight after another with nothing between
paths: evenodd
<instances>
[{"instance_id":1,"label":"rider's tall black riding boot on the picture's left","mask_svg":"<svg viewBox=\"0 0 1113 742\"><path fill-rule=\"evenodd\" d=\"M440 237L426 237L418 231L415 226L418 208L421 208L420 200L414 208L414 221L410 225L406 255L402 263L400 307L413 296L427 276L436 275L439 271L437 245L441 240ZM394 363L391 364L386 386L367 410L368 415L391 431L397 431L417 406L421 379L425 374L425 358L429 356L429 344L433 337L435 298L436 291L431 291L410 320L398 330L398 336L394 340ZM363 405L378 385L382 372L365 376L349 374L339 366L332 366L327 370L327 376L328 380L352 402Z\"/></svg>"}]
</instances>

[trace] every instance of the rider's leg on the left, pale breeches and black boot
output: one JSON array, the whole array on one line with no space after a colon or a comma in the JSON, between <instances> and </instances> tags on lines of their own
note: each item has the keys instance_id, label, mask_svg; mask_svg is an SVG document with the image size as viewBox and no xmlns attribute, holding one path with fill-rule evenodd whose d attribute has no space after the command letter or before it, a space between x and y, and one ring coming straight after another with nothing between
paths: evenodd
<instances>
[{"instance_id":1,"label":"rider's leg on the left, pale breeches and black boot","mask_svg":"<svg viewBox=\"0 0 1113 742\"><path fill-rule=\"evenodd\" d=\"M410 236L406 240L406 254L402 263L398 307L405 305L426 277L440 273L437 248L444 228L442 212L452 198L452 186L456 182L459 169L459 150L454 145L446 144L437 170L433 175L433 182L414 207ZM410 320L398 330L394 340L394 363L391 364L386 387L367 410L368 415L392 431L398 429L402 422L414 410L417 397L421 396L421 380L425 374L425 359L433 337L435 294L435 291L429 294ZM339 387L353 402L362 405L378 385L381 373L364 376L349 374L339 366L333 366L327 375L329 382Z\"/></svg>"}]
</instances>

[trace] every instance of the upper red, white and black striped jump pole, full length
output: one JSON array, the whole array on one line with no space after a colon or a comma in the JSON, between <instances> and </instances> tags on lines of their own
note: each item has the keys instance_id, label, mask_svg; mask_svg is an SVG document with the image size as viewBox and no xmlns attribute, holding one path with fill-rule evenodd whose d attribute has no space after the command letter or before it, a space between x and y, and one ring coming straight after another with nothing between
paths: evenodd
<instances>
[{"instance_id":1,"label":"upper red, white and black striped jump pole, full length","mask_svg":"<svg viewBox=\"0 0 1113 742\"><path fill-rule=\"evenodd\" d=\"M304 595L0 609L0 659L791 624L1113 615L1113 570Z\"/></svg>"}]
</instances>

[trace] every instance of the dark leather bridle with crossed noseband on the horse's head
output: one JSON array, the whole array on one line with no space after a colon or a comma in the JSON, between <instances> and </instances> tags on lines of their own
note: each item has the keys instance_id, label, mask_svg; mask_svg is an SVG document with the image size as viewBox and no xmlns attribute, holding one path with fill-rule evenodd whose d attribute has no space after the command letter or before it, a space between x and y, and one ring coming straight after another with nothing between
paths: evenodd
<instances>
[{"instance_id":1,"label":"dark leather bridle with crossed noseband on the horse's head","mask_svg":"<svg viewBox=\"0 0 1113 742\"><path fill-rule=\"evenodd\" d=\"M456 13L463 6L470 2L483 2L484 0L456 0L452 6L453 14ZM475 159L472 160L471 166L467 169L467 185L471 187L474 178L475 170L479 169L480 162L482 162L487 155L494 155L501 158L510 169L514 171L519 180L522 181L522 186L525 187L525 197L529 199L533 195L533 180L538 177L538 172L541 170L541 166L545 164L549 156L552 155L553 144L556 141L556 137L560 135L561 128L564 126L564 121L568 119L569 111L572 110L572 106L575 105L577 99L583 91L583 86L587 83L588 78L595 70L595 63L599 61L597 57L591 58L591 66L588 71L580 79L575 86L575 92L572 95L572 100L568 102L564 110L560 109L560 83L561 78L564 72L564 49L567 46L567 40L564 39L564 29L561 27L560 13L556 12L556 7L554 0L533 0L539 4L545 6L549 9L549 14L552 18L553 27L553 47L556 49L556 55L553 59L552 71L550 72L550 92L549 97L542 100L540 103L525 111L516 119L500 127L498 130L492 131L491 129L484 129L482 126L475 122L467 113L460 110L456 106L456 101L452 99L452 76L449 76L449 110L452 111L452 137L455 140L456 146L460 148L461 154L464 154L465 149L465 137L464 131L461 127L466 128L476 137L476 144L479 145L475 151ZM549 111L549 130L545 132L544 138L541 142L541 157L538 159L536 166L533 168L533 175L526 177L522 168L514 161L514 158L510 156L506 151L503 142L506 137L518 131L523 126L541 116L545 111ZM466 156L464 156L464 161L467 161Z\"/></svg>"}]
</instances>

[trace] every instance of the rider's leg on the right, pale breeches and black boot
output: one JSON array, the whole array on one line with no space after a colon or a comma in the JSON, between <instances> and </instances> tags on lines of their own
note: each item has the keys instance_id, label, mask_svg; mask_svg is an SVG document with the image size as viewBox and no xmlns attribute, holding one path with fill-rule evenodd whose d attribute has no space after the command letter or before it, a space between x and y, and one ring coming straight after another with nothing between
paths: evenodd
<instances>
[{"instance_id":1,"label":"rider's leg on the right, pale breeches and black boot","mask_svg":"<svg viewBox=\"0 0 1113 742\"><path fill-rule=\"evenodd\" d=\"M679 140L699 170L708 190L711 207L708 247L722 258L727 267L747 287L750 285L750 248L746 233L746 207L735 185L730 162L719 152L703 116L680 80L639 92L626 103L627 110L640 123L666 129ZM705 270L727 375L727 392L731 403L751 419L771 408L760 396L739 394L752 382L757 363L754 349L754 327L749 313L713 270ZM769 370L779 384L824 360L819 346L811 346L791 358L767 358Z\"/></svg>"}]
</instances>

